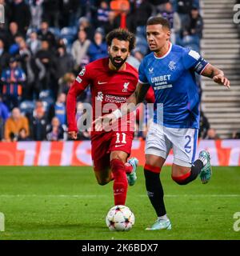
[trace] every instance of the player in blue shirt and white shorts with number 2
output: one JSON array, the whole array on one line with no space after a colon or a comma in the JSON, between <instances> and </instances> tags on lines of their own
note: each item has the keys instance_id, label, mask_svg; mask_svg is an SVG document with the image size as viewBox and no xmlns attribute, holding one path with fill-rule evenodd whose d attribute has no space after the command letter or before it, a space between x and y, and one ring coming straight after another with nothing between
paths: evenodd
<instances>
[{"instance_id":1,"label":"player in blue shirt and white shorts with number 2","mask_svg":"<svg viewBox=\"0 0 240 256\"><path fill-rule=\"evenodd\" d=\"M154 122L146 135L144 174L147 194L158 219L146 230L170 230L160 179L170 150L174 152L171 172L174 182L186 185L199 174L202 183L206 183L211 177L210 154L206 150L202 150L194 161L200 112L194 73L212 78L227 88L230 88L230 81L222 70L206 62L196 51L172 45L170 24L165 18L151 17L147 21L146 38L151 53L142 59L139 66L137 89L121 110L100 119L107 123L107 120L113 122L122 117L130 111L132 104L128 103L137 105L144 100L149 87L154 88ZM99 122L100 126L104 127Z\"/></svg>"}]
</instances>

